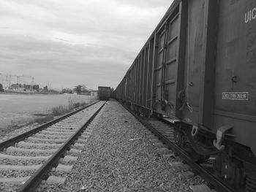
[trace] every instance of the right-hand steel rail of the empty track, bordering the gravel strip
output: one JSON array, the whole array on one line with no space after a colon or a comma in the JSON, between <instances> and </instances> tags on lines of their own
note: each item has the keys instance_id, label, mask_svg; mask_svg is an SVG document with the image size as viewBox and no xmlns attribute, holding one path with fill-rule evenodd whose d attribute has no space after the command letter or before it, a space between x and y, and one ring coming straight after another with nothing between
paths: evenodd
<instances>
[{"instance_id":1,"label":"right-hand steel rail of the empty track, bordering the gravel strip","mask_svg":"<svg viewBox=\"0 0 256 192\"><path fill-rule=\"evenodd\" d=\"M95 112L93 115L91 115L91 118L86 121L86 123L83 124L80 128L78 128L78 131L75 131L75 134L70 137L67 142L62 145L59 150L56 151L56 153L53 153L53 155L48 159L48 161L45 162L38 170L35 172L29 180L24 183L19 189L18 192L32 192L37 188L37 185L41 182L41 180L46 179L48 177L48 172L52 169L53 166L56 166L58 164L59 159L64 155L64 153L69 150L70 146L75 142L76 139L80 136L80 134L83 132L84 128L89 126L89 123L91 123L91 120L94 119L94 117L99 113L100 110L102 110L102 107L104 107L105 103L102 104L101 107L99 107L99 110Z\"/></svg>"}]
</instances>

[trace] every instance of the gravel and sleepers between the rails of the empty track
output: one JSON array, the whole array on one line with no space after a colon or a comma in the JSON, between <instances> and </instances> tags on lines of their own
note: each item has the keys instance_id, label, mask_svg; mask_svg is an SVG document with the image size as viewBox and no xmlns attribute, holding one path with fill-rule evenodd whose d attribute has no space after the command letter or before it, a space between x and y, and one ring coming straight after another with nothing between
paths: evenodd
<instances>
[{"instance_id":1,"label":"gravel and sleepers between the rails of the empty track","mask_svg":"<svg viewBox=\"0 0 256 192\"><path fill-rule=\"evenodd\" d=\"M99 102L95 105L96 107L88 107L91 108L91 110L89 110L88 112L80 111L67 119L59 121L54 125L54 127L59 127L59 129L57 130L59 130L60 133L62 130L77 130L78 127L81 127L85 123L85 121L87 121L91 117L92 112L97 110L102 105L102 102ZM71 137L73 133L69 135ZM43 138L41 139L41 137ZM53 135L34 134L32 137L28 137L25 141L18 142L15 144L15 146L7 147L3 151L1 151L0 191L17 191L18 185L22 185L24 181L23 178L20 177L29 177L37 172L37 170L42 166L42 163L47 161L48 158L50 158L50 155L56 153L59 147L61 147L61 145L56 143L59 143L61 141L61 143L63 144L64 142L67 142L68 138L69 137L67 136L56 136L54 135L54 133ZM32 147L34 144L32 142L29 143L29 140L31 140L32 142L37 142L36 148ZM55 146L55 148L44 149L45 140L50 143L53 142L53 144L46 143L47 147ZM42 145L40 145L38 142L42 142ZM22 145L31 147L23 148ZM39 148L39 146L42 147ZM71 149L69 151L70 153L81 153L81 150ZM61 166L59 164L56 168L57 171L65 169L67 169L67 171L70 171L72 169L72 166ZM10 184L13 184L13 186L10 186Z\"/></svg>"}]
</instances>

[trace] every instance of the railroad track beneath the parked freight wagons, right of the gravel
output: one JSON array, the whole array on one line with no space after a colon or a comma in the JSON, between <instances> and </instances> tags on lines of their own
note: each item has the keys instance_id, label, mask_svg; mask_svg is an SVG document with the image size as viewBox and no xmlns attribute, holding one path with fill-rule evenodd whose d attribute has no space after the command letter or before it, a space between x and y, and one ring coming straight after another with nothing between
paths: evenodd
<instances>
[{"instance_id":1,"label":"railroad track beneath the parked freight wagons, right of the gravel","mask_svg":"<svg viewBox=\"0 0 256 192\"><path fill-rule=\"evenodd\" d=\"M125 106L124 106L125 107ZM235 192L233 188L221 179L219 179L214 172L211 172L210 164L199 164L192 160L191 155L183 148L175 143L173 123L165 119L159 118L143 118L138 117L134 112L125 107L132 115L137 118L146 128L153 132L170 150L177 153L181 159L186 161L192 169L195 169L204 180L214 186L217 192Z\"/></svg>"}]
</instances>

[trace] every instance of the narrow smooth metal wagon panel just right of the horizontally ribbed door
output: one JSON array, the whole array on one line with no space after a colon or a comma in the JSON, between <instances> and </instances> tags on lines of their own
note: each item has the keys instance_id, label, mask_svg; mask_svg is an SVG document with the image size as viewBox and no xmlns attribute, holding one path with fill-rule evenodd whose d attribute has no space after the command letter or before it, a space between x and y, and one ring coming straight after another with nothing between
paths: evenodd
<instances>
[{"instance_id":1,"label":"narrow smooth metal wagon panel just right of the horizontally ribbed door","mask_svg":"<svg viewBox=\"0 0 256 192\"><path fill-rule=\"evenodd\" d=\"M197 126L203 93L204 54L206 44L206 1L193 0L188 5L187 53L184 68L184 107L181 119ZM216 13L217 14L217 13Z\"/></svg>"}]
</instances>

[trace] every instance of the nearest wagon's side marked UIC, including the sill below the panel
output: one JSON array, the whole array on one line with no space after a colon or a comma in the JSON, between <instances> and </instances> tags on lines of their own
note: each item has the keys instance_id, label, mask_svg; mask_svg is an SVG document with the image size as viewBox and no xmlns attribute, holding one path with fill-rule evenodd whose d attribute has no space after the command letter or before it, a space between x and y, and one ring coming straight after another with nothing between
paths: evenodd
<instances>
[{"instance_id":1,"label":"nearest wagon's side marked UIC, including the sill below the panel","mask_svg":"<svg viewBox=\"0 0 256 192\"><path fill-rule=\"evenodd\" d=\"M256 1L220 1L214 129L233 126L236 142L256 154L255 53Z\"/></svg>"}]
</instances>

